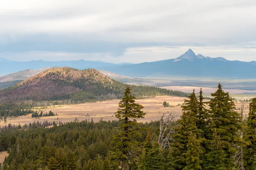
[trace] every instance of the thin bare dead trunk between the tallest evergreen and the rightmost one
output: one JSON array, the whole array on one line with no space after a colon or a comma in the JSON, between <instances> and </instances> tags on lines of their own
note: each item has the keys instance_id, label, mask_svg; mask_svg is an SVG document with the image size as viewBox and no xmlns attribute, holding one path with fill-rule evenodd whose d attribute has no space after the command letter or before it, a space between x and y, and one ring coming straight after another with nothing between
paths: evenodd
<instances>
[{"instance_id":1,"label":"thin bare dead trunk between the tallest evergreen and the rightmost one","mask_svg":"<svg viewBox=\"0 0 256 170\"><path fill-rule=\"evenodd\" d=\"M243 113L244 113L244 102L241 102L241 117L242 117L241 124L243 124L243 122L244 122ZM244 138L244 130L243 129L239 130L239 133L240 133L240 138L243 139ZM244 167L244 148L241 147L241 146L238 146L237 148L238 148L238 150L236 152L236 155L233 157L234 160L235 160L235 164L238 165L237 170L245 170L245 167Z\"/></svg>"}]
</instances>

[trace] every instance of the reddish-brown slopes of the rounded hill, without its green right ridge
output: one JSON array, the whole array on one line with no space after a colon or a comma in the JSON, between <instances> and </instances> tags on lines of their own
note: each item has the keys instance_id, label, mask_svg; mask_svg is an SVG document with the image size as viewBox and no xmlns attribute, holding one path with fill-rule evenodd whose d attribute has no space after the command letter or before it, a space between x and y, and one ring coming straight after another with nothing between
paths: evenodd
<instances>
[{"instance_id":1,"label":"reddish-brown slopes of the rounded hill, without its green right ridge","mask_svg":"<svg viewBox=\"0 0 256 170\"><path fill-rule=\"evenodd\" d=\"M0 104L24 100L51 101L71 99L81 93L83 100L95 94L90 91L111 88L112 80L94 69L52 68L36 74L17 85L0 92ZM81 97L81 95L79 95Z\"/></svg>"}]
</instances>

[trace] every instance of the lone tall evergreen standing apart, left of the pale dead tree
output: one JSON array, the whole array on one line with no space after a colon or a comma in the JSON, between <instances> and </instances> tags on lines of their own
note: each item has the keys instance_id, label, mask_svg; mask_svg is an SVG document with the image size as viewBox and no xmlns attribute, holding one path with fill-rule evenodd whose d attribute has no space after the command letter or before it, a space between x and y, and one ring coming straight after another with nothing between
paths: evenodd
<instances>
[{"instance_id":1,"label":"lone tall evergreen standing apart, left of the pale dead tree","mask_svg":"<svg viewBox=\"0 0 256 170\"><path fill-rule=\"evenodd\" d=\"M143 106L135 103L135 99L131 95L131 88L127 87L116 112L116 118L119 119L120 123L120 132L113 136L113 146L116 149L116 152L113 153L113 159L122 162L122 170L131 170L136 167L139 156L137 137L140 136L142 129L138 127L139 124L134 119L144 118L145 113L141 111Z\"/></svg>"}]
</instances>

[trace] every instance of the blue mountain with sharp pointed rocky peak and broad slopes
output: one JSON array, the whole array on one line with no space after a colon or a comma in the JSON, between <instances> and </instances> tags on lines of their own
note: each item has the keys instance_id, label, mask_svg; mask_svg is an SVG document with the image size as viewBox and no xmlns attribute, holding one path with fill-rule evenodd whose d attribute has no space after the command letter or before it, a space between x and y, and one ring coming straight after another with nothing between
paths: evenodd
<instances>
[{"instance_id":1,"label":"blue mountain with sharp pointed rocky peak and broad slopes","mask_svg":"<svg viewBox=\"0 0 256 170\"><path fill-rule=\"evenodd\" d=\"M222 57L204 57L189 49L175 59L143 62L106 68L128 77L203 77L229 79L256 79L256 62L229 61Z\"/></svg>"}]
</instances>

